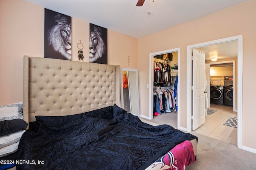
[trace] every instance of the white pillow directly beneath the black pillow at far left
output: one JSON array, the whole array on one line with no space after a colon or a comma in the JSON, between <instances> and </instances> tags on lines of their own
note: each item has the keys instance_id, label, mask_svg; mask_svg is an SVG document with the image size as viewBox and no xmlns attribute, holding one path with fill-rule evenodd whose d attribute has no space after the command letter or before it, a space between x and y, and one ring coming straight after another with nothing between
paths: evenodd
<instances>
[{"instance_id":1,"label":"white pillow directly beneath the black pillow at far left","mask_svg":"<svg viewBox=\"0 0 256 170\"><path fill-rule=\"evenodd\" d=\"M0 137L0 148L12 145L20 141L20 138L24 132L25 130Z\"/></svg>"}]
</instances>

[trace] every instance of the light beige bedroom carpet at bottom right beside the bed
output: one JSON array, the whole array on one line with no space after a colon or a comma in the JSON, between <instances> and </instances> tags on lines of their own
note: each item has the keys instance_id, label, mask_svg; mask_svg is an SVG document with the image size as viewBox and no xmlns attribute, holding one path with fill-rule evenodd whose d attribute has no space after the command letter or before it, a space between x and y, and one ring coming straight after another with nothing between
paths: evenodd
<instances>
[{"instance_id":1,"label":"light beige bedroom carpet at bottom right beside the bed","mask_svg":"<svg viewBox=\"0 0 256 170\"><path fill-rule=\"evenodd\" d=\"M195 132L198 137L196 161L186 170L256 170L256 154Z\"/></svg>"}]
</instances>

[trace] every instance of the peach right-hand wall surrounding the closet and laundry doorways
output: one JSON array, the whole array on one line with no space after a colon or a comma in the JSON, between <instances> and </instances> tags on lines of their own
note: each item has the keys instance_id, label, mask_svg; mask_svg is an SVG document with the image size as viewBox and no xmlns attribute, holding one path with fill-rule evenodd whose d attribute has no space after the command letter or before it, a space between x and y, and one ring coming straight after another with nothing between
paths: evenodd
<instances>
[{"instance_id":1,"label":"peach right-hand wall surrounding the closet and laundry doorways","mask_svg":"<svg viewBox=\"0 0 256 170\"><path fill-rule=\"evenodd\" d=\"M254 101L256 79L252 78L256 63L256 1L249 0L237 6L209 14L176 27L166 29L138 40L138 68L140 77L140 113L149 116L149 54L180 47L180 126L186 128L186 47L216 39L243 35L243 145L256 149ZM159 45L161 44L161 45Z\"/></svg>"}]
</instances>

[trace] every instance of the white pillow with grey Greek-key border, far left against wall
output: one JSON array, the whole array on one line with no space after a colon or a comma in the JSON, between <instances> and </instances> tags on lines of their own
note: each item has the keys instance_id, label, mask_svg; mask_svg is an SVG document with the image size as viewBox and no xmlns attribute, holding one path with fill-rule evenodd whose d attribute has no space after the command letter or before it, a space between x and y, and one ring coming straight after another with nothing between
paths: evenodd
<instances>
[{"instance_id":1,"label":"white pillow with grey Greek-key border, far left against wall","mask_svg":"<svg viewBox=\"0 0 256 170\"><path fill-rule=\"evenodd\" d=\"M0 106L0 121L23 119L23 102Z\"/></svg>"}]
</instances>

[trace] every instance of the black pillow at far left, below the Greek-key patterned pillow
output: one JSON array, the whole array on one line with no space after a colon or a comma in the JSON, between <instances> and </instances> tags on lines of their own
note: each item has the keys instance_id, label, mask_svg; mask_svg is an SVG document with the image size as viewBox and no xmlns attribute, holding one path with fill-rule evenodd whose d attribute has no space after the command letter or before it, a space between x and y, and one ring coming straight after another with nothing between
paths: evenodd
<instances>
[{"instance_id":1,"label":"black pillow at far left, below the Greek-key patterned pillow","mask_svg":"<svg viewBox=\"0 0 256 170\"><path fill-rule=\"evenodd\" d=\"M0 121L0 137L25 130L27 126L28 123L26 123L23 119Z\"/></svg>"}]
</instances>

